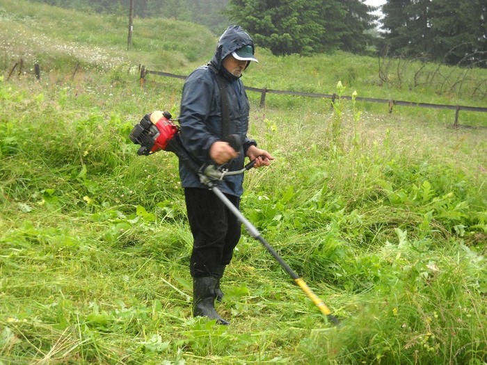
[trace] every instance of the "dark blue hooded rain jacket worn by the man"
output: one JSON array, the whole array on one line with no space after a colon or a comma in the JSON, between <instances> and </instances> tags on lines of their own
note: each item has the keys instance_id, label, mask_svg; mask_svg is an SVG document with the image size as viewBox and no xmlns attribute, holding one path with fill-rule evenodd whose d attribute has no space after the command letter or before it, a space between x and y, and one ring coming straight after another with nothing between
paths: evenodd
<instances>
[{"instance_id":1,"label":"dark blue hooded rain jacket worn by the man","mask_svg":"<svg viewBox=\"0 0 487 365\"><path fill-rule=\"evenodd\" d=\"M209 149L213 143L223 139L221 96L214 70L223 76L225 91L228 97L230 114L230 134L238 134L242 140L242 147L237 159L225 165L230 171L244 168L246 151L250 145L257 145L255 140L247 137L249 103L242 81L227 72L223 67L223 58L233 51L250 45L253 40L240 26L229 26L221 35L215 54L208 65L198 67L184 83L179 113L181 124L180 136L186 150L202 164L214 164L209 156ZM200 183L198 175L189 170L183 163L179 163L179 177L183 188L207 188ZM223 193L240 196L243 193L242 183L244 175L225 177L218 186Z\"/></svg>"}]
</instances>

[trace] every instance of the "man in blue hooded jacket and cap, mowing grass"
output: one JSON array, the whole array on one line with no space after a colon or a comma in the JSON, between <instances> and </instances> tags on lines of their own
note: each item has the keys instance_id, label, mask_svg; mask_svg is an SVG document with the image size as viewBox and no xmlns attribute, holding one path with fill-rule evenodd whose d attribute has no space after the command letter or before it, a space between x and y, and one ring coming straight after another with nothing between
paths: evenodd
<instances>
[{"instance_id":1,"label":"man in blue hooded jacket and cap, mowing grass","mask_svg":"<svg viewBox=\"0 0 487 365\"><path fill-rule=\"evenodd\" d=\"M208 65L198 67L184 83L180 136L184 147L200 164L225 164L225 168L234 171L244 167L246 156L255 160L257 168L268 166L273 159L247 137L249 103L240 77L251 61L257 62L253 40L240 26L229 26L218 40ZM224 103L227 106L222 108ZM224 136L224 131L228 136ZM230 135L237 135L241 144L230 145ZM179 176L193 234L190 261L193 316L205 316L227 325L216 312L214 300L223 297L220 279L241 236L241 224L183 163L179 163ZM218 186L237 209L243 181L243 174L231 175Z\"/></svg>"}]
</instances>

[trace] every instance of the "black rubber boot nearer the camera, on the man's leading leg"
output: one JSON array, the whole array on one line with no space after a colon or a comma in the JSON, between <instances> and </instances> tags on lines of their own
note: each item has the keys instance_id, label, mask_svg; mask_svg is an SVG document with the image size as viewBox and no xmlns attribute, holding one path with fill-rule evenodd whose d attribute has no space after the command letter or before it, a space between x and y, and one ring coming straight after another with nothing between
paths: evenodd
<instances>
[{"instance_id":1,"label":"black rubber boot nearer the camera, on the man's leading leg","mask_svg":"<svg viewBox=\"0 0 487 365\"><path fill-rule=\"evenodd\" d=\"M216 277L193 277L193 316L216 319L219 325L229 325L215 310Z\"/></svg>"}]
</instances>

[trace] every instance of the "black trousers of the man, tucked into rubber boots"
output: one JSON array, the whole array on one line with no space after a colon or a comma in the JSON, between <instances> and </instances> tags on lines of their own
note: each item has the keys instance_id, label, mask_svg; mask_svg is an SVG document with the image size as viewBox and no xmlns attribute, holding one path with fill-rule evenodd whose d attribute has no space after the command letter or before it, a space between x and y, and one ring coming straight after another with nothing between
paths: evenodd
<instances>
[{"instance_id":1,"label":"black trousers of the man, tucked into rubber boots","mask_svg":"<svg viewBox=\"0 0 487 365\"><path fill-rule=\"evenodd\" d=\"M225 196L239 209L239 197ZM219 277L218 268L232 260L241 236L241 223L211 190L185 188L184 197L193 234L191 276Z\"/></svg>"}]
</instances>

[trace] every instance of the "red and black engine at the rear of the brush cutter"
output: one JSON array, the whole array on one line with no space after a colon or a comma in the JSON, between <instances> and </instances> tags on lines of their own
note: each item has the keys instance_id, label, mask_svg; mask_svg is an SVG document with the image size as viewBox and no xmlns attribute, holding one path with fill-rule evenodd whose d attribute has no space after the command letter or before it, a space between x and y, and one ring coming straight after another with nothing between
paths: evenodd
<instances>
[{"instance_id":1,"label":"red and black engine at the rear of the brush cutter","mask_svg":"<svg viewBox=\"0 0 487 365\"><path fill-rule=\"evenodd\" d=\"M141 145L137 154L147 156L161 149L166 150L178 132L179 127L174 124L168 111L154 111L144 115L130 132L129 138L136 145Z\"/></svg>"}]
</instances>

